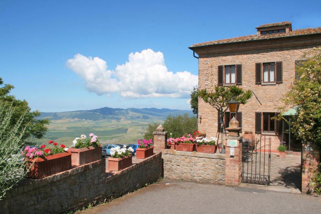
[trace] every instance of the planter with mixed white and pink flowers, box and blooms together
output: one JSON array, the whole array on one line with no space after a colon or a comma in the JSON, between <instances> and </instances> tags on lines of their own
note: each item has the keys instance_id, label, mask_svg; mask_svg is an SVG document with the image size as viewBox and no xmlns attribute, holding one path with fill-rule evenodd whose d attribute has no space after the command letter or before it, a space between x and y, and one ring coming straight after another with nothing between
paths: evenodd
<instances>
[{"instance_id":1,"label":"planter with mixed white and pink flowers, box and blooms together","mask_svg":"<svg viewBox=\"0 0 321 214\"><path fill-rule=\"evenodd\" d=\"M87 138L82 134L75 138L73 143L74 148L69 148L67 151L71 152L71 164L80 166L82 164L90 163L101 158L101 146L97 140L97 136L93 133L89 134L91 138Z\"/></svg>"}]
</instances>

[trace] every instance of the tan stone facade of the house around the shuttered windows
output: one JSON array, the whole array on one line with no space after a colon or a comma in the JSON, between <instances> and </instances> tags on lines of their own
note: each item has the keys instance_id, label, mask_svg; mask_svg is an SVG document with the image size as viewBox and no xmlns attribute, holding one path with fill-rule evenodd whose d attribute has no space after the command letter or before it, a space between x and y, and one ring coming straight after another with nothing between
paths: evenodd
<instances>
[{"instance_id":1,"label":"tan stone facade of the house around the shuttered windows","mask_svg":"<svg viewBox=\"0 0 321 214\"><path fill-rule=\"evenodd\" d=\"M313 47L317 47L317 45L200 55L199 90L211 89L214 85L217 85L218 65L242 64L241 87L244 90L253 90L262 102L262 105L260 105L253 95L247 104L239 107L239 112L242 112L242 132L252 131L255 133L255 112L279 111L278 107L283 106L281 99L290 90L295 79L295 60L298 60L304 52ZM283 64L283 83L256 85L255 64L276 61L282 61ZM218 126L217 111L214 107L205 103L202 98L198 99L198 116L202 116L202 120L198 120L198 130L207 133L207 136L215 136ZM271 149L276 150L282 137L275 134L266 137L272 138ZM260 138L260 135L256 134L256 138Z\"/></svg>"}]
</instances>

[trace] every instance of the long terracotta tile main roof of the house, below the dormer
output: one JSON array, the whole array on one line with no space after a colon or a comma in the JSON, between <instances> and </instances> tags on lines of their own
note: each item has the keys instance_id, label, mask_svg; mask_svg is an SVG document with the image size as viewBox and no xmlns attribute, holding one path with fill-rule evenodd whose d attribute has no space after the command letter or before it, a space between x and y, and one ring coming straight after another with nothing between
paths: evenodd
<instances>
[{"instance_id":1,"label":"long terracotta tile main roof of the house, below the dormer","mask_svg":"<svg viewBox=\"0 0 321 214\"><path fill-rule=\"evenodd\" d=\"M235 37L230 39L220 39L215 41L197 43L192 45L191 47L197 47L197 46L203 46L203 45L214 45L214 44L221 44L221 43L228 43L228 42L241 42L241 41L259 40L259 39L267 39L267 38L287 37L287 36L293 36L293 35L303 35L303 34L313 34L313 33L321 33L321 27L292 30L289 33L281 33L281 34L270 34L270 35L267 34L267 35L261 35L261 36L257 36L257 34L252 34L249 36L240 36L240 37Z\"/></svg>"}]
</instances>

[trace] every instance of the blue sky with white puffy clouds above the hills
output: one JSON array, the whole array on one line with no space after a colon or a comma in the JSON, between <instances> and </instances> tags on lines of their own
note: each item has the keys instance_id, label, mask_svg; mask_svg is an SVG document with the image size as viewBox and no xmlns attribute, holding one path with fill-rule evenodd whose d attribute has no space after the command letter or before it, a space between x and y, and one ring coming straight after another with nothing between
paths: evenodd
<instances>
[{"instance_id":1,"label":"blue sky with white puffy clouds above the hills","mask_svg":"<svg viewBox=\"0 0 321 214\"><path fill-rule=\"evenodd\" d=\"M265 23L319 27L320 8L321 1L3 0L0 77L32 110L189 109L198 73L189 46L255 34Z\"/></svg>"}]
</instances>

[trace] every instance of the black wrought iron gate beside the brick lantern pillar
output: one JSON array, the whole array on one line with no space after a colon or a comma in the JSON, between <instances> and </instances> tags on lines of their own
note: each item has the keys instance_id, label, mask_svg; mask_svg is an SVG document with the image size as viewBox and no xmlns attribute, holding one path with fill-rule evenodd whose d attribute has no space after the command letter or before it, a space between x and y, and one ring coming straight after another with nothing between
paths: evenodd
<instances>
[{"instance_id":1,"label":"black wrought iron gate beside the brick lantern pillar","mask_svg":"<svg viewBox=\"0 0 321 214\"><path fill-rule=\"evenodd\" d=\"M243 142L242 182L270 184L271 138L260 138L253 143Z\"/></svg>"}]
</instances>

